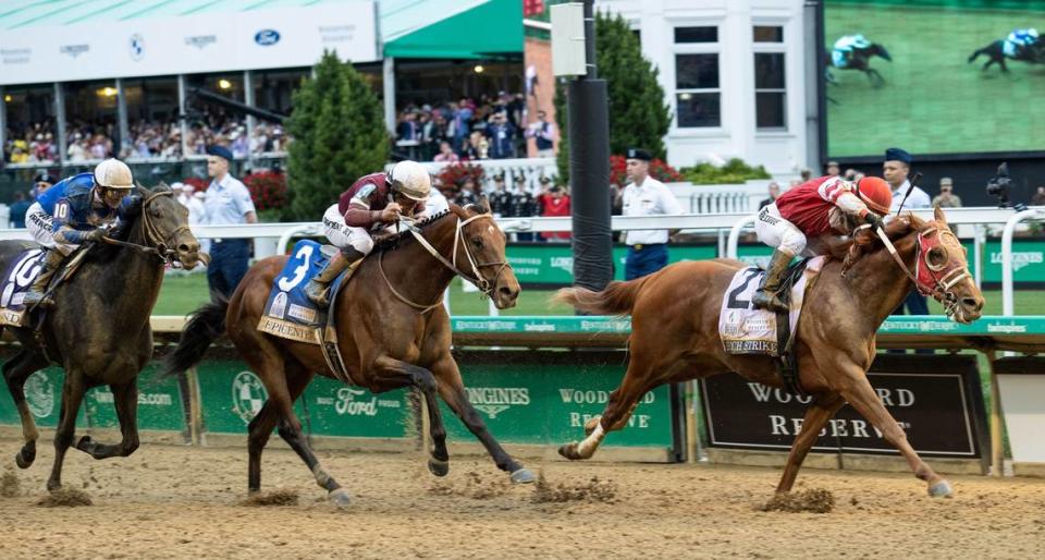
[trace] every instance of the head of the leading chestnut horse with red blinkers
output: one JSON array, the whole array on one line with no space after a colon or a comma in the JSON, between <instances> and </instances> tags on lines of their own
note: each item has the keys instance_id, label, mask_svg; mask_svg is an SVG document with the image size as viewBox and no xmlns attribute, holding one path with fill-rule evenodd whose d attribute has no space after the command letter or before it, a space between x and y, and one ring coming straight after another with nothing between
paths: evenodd
<instances>
[{"instance_id":1,"label":"head of the leading chestnut horse with red blinkers","mask_svg":"<svg viewBox=\"0 0 1045 560\"><path fill-rule=\"evenodd\" d=\"M969 324L980 318L983 293L969 273L968 252L947 227L947 216L936 208L935 219L912 217L918 231L914 277L919 291L944 305L948 316Z\"/></svg>"}]
</instances>

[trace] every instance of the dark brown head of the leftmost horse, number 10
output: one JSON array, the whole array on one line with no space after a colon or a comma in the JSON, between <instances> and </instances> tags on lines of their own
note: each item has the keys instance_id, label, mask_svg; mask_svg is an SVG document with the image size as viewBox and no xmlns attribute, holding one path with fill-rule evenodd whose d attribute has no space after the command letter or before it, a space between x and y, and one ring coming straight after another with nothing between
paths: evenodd
<instances>
[{"instance_id":1,"label":"dark brown head of the leftmost horse, number 10","mask_svg":"<svg viewBox=\"0 0 1045 560\"><path fill-rule=\"evenodd\" d=\"M173 251L185 269L200 263L199 241L188 229L188 209L179 203L167 185L149 191L139 188L142 196L140 227L144 242L161 252ZM206 257L204 257L206 258Z\"/></svg>"}]
</instances>

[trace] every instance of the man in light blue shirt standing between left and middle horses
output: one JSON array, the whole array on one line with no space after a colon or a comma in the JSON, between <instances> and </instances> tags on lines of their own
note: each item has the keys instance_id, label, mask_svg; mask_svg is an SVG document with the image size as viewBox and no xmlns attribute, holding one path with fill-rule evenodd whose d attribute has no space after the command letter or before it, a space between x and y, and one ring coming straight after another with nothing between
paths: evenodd
<instances>
[{"instance_id":1,"label":"man in light blue shirt standing between left and middle horses","mask_svg":"<svg viewBox=\"0 0 1045 560\"><path fill-rule=\"evenodd\" d=\"M229 173L233 161L232 151L214 145L208 150L207 174L212 181L204 199L204 221L207 226L256 223L257 212L250 192ZM211 241L210 266L207 267L207 284L210 292L231 296L244 275L247 273L249 240L214 239Z\"/></svg>"}]
</instances>

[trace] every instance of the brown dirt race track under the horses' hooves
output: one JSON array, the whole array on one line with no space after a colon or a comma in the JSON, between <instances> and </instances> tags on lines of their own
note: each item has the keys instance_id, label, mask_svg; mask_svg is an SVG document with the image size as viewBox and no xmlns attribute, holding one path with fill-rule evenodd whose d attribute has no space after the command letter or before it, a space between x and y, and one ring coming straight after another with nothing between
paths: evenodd
<instances>
[{"instance_id":1,"label":"brown dirt race track under the horses' hooves","mask_svg":"<svg viewBox=\"0 0 1045 560\"><path fill-rule=\"evenodd\" d=\"M4 468L17 447L0 441ZM355 499L340 511L290 451L266 452L262 484L296 491L298 504L257 507L243 504L245 450L147 445L106 462L70 451L66 487L95 504L42 508L52 448L41 448L16 473L22 495L0 498L2 557L1030 558L1045 548L1042 479L951 477L956 497L933 500L907 475L807 470L797 489L829 490L834 511L767 513L757 510L776 484L767 468L530 459L552 485L601 480L594 499L536 503L533 486L507 487L484 459L452 459L437 479L416 454L321 452Z\"/></svg>"}]
</instances>

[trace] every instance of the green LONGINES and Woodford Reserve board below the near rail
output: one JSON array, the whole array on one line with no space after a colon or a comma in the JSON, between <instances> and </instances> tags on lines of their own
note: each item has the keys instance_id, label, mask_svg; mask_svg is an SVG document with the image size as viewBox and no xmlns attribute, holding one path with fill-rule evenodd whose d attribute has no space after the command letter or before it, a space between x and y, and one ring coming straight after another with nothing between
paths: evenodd
<instances>
[{"instance_id":1,"label":"green LONGINES and Woodford Reserve board below the near rail","mask_svg":"<svg viewBox=\"0 0 1045 560\"><path fill-rule=\"evenodd\" d=\"M623 354L604 352L462 353L458 363L468 400L490 433L508 443L561 445L585 436L585 423L602 414L610 393L624 378ZM444 404L451 439L471 433ZM628 421L611 433L605 446L673 447L671 391L647 393Z\"/></svg>"}]
</instances>

